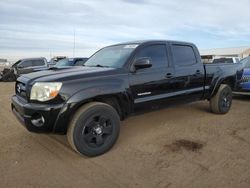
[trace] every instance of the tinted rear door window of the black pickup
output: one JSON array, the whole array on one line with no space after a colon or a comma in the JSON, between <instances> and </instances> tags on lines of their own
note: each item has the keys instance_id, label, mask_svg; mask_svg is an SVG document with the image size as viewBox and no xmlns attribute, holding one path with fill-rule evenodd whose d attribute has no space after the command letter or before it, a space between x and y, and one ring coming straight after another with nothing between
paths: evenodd
<instances>
[{"instance_id":1,"label":"tinted rear door window of the black pickup","mask_svg":"<svg viewBox=\"0 0 250 188\"><path fill-rule=\"evenodd\" d=\"M196 63L196 57L192 46L173 45L172 51L175 65L188 66Z\"/></svg>"}]
</instances>

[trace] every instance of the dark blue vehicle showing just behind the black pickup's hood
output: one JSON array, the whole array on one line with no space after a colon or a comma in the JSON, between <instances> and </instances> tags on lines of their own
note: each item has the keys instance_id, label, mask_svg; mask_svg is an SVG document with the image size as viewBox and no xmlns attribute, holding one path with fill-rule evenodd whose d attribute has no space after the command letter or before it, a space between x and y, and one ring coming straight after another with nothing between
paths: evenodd
<instances>
[{"instance_id":1,"label":"dark blue vehicle showing just behind the black pickup's hood","mask_svg":"<svg viewBox=\"0 0 250 188\"><path fill-rule=\"evenodd\" d=\"M85 57L65 58L58 61L55 67L83 66L87 60Z\"/></svg>"}]
</instances>

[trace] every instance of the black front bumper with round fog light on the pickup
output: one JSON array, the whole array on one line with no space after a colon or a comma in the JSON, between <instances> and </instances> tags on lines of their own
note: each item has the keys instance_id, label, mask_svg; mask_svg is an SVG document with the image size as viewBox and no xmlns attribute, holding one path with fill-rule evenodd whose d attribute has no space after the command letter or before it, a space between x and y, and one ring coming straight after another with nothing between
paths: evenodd
<instances>
[{"instance_id":1,"label":"black front bumper with round fog light on the pickup","mask_svg":"<svg viewBox=\"0 0 250 188\"><path fill-rule=\"evenodd\" d=\"M54 127L63 104L27 103L14 95L11 98L11 109L17 119L29 131L37 133L55 132Z\"/></svg>"}]
</instances>

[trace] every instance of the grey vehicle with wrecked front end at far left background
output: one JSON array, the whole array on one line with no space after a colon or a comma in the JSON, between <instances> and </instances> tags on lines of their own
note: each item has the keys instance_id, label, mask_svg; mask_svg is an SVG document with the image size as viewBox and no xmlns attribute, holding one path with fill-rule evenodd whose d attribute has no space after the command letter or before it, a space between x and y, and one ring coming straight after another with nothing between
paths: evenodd
<instances>
[{"instance_id":1,"label":"grey vehicle with wrecked front end at far left background","mask_svg":"<svg viewBox=\"0 0 250 188\"><path fill-rule=\"evenodd\" d=\"M0 73L1 81L14 81L22 74L48 69L48 62L44 57L20 59L10 68Z\"/></svg>"}]
</instances>

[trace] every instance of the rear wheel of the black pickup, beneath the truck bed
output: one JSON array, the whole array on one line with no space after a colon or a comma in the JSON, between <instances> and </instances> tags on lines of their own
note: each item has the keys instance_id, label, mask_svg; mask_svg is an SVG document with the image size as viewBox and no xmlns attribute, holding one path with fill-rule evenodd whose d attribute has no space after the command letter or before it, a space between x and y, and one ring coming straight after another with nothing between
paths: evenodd
<instances>
[{"instance_id":1,"label":"rear wheel of the black pickup, beneath the truck bed","mask_svg":"<svg viewBox=\"0 0 250 188\"><path fill-rule=\"evenodd\" d=\"M216 114L226 114L232 105L232 89L221 84L217 93L210 99L210 109Z\"/></svg>"}]
</instances>

